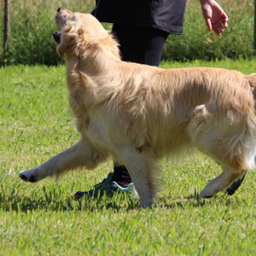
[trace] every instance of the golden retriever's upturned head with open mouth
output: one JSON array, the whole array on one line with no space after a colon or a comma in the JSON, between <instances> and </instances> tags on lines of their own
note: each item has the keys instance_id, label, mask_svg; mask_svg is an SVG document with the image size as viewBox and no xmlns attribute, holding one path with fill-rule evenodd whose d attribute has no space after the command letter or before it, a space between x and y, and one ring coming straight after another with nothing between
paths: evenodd
<instances>
[{"instance_id":1,"label":"golden retriever's upturned head with open mouth","mask_svg":"<svg viewBox=\"0 0 256 256\"><path fill-rule=\"evenodd\" d=\"M59 8L55 23L61 30L53 34L59 55L79 55L79 51L84 51L87 44L108 37L108 32L102 24L90 14L73 13L68 9Z\"/></svg>"}]
</instances>

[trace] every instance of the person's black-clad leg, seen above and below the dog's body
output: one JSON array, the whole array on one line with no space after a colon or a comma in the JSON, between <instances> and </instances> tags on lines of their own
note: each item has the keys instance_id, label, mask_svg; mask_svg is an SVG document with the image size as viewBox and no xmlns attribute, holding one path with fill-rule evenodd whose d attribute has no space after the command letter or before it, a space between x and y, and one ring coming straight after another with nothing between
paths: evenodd
<instances>
[{"instance_id":1,"label":"person's black-clad leg, seen above and below the dog's body","mask_svg":"<svg viewBox=\"0 0 256 256\"><path fill-rule=\"evenodd\" d=\"M119 41L123 61L159 66L168 36L167 32L153 27L113 24L113 34ZM119 184L131 183L125 166L114 163L112 180Z\"/></svg>"}]
</instances>

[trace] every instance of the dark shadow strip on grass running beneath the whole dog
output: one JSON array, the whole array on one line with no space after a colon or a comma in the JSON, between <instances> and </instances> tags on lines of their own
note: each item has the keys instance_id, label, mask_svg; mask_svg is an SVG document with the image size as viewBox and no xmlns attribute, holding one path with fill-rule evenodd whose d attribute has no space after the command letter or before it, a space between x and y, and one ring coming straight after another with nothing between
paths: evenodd
<instances>
[{"instance_id":1,"label":"dark shadow strip on grass running beneath the whole dog","mask_svg":"<svg viewBox=\"0 0 256 256\"><path fill-rule=\"evenodd\" d=\"M227 204L228 201L225 201ZM201 199L198 195L189 195L180 198L159 198L156 200L154 208L170 209L193 207L204 207L212 204L212 200ZM103 196L102 198L81 198L76 200L72 196L55 196L43 195L38 198L30 196L22 196L11 193L11 195L0 196L0 206L2 210L11 212L33 212L43 210L47 212L73 212L73 211L90 211L101 212L105 210L131 211L139 210L140 202L129 195L115 195L113 198Z\"/></svg>"}]
</instances>

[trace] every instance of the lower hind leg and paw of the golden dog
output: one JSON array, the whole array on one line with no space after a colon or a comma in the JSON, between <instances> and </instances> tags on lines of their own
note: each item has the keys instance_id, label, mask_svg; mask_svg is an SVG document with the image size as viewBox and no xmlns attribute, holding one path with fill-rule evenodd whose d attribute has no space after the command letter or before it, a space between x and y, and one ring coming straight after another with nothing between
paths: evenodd
<instances>
[{"instance_id":1,"label":"lower hind leg and paw of the golden dog","mask_svg":"<svg viewBox=\"0 0 256 256\"><path fill-rule=\"evenodd\" d=\"M218 192L225 192L226 189L229 188L230 184L235 183L236 180L246 172L244 171L241 173L234 168L224 166L223 169L224 171L218 177L215 177L204 189L202 189L200 193L201 197L210 198ZM238 187L239 186L240 184ZM238 187L236 186L236 189L238 189Z\"/></svg>"}]
</instances>

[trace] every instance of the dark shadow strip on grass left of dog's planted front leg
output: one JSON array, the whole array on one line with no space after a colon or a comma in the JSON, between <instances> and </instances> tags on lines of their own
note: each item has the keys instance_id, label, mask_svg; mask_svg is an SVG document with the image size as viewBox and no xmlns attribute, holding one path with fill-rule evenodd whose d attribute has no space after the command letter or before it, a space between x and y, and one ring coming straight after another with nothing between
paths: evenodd
<instances>
[{"instance_id":1,"label":"dark shadow strip on grass left of dog's planted front leg","mask_svg":"<svg viewBox=\"0 0 256 256\"><path fill-rule=\"evenodd\" d=\"M0 194L0 208L5 212L28 212L44 210L46 212L73 212L73 211L90 211L100 212L112 209L114 212L126 209L130 211L139 209L139 201L133 200L127 195L114 195L113 198L103 196L102 198L83 197L76 200L74 196L65 195L43 195L24 196L19 193L10 195Z\"/></svg>"}]
</instances>

